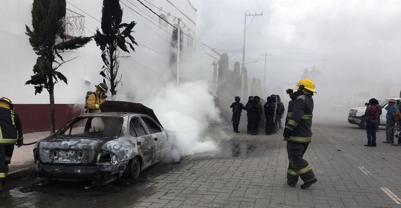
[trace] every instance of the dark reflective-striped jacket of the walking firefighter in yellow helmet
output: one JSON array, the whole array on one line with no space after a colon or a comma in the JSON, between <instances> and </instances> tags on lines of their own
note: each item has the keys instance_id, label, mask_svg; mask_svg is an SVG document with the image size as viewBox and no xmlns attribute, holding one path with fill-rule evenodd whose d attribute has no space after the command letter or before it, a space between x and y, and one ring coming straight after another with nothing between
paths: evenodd
<instances>
[{"instance_id":1,"label":"dark reflective-striped jacket of the walking firefighter in yellow helmet","mask_svg":"<svg viewBox=\"0 0 401 208\"><path fill-rule=\"evenodd\" d=\"M286 128L291 131L290 138L284 139L298 143L310 143L312 141L312 112L313 99L311 95L305 95L302 91L294 93L294 97L288 104Z\"/></svg>"}]
</instances>

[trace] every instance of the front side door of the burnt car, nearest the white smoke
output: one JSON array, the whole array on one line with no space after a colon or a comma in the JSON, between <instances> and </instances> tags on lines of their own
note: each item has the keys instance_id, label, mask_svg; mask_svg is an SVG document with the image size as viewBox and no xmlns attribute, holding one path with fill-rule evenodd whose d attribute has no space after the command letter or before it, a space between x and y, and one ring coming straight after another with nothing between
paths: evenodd
<instances>
[{"instance_id":1,"label":"front side door of the burnt car, nearest the white smoke","mask_svg":"<svg viewBox=\"0 0 401 208\"><path fill-rule=\"evenodd\" d=\"M154 120L148 116L140 116L144 121L148 131L152 135L155 145L156 145L156 153L154 162L160 161L167 152L167 139L166 132L156 123Z\"/></svg>"}]
</instances>

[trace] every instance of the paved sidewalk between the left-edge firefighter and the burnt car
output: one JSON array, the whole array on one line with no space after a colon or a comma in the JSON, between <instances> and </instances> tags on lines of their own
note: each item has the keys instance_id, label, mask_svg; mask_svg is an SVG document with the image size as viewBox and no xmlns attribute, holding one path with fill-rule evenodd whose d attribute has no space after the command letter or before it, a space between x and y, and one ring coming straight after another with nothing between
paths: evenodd
<instances>
[{"instance_id":1,"label":"paved sidewalk between the left-edge firefighter and the burnt car","mask_svg":"<svg viewBox=\"0 0 401 208\"><path fill-rule=\"evenodd\" d=\"M37 132L24 134L24 143L31 143L49 136L49 132ZM15 146L12 154L9 173L13 173L20 169L33 167L33 147L35 145L24 145L20 148Z\"/></svg>"}]
</instances>

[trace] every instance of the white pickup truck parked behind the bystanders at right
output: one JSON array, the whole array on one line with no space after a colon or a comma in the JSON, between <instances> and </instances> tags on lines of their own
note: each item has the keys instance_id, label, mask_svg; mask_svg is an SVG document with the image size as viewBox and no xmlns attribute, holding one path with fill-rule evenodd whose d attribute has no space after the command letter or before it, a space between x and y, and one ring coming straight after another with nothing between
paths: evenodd
<instances>
[{"instance_id":1,"label":"white pickup truck parked behind the bystanders at right","mask_svg":"<svg viewBox=\"0 0 401 208\"><path fill-rule=\"evenodd\" d=\"M400 105L401 98L394 98L394 99L397 101L396 104L397 104L397 108L398 108L398 106ZM381 126L385 126L386 125L386 114L387 114L387 109L388 109L387 107L389 106L389 100L390 100L390 98L385 99L385 100L383 100L383 102L380 103L382 113L381 113L381 116L380 116L379 125L381 125ZM350 124L356 124L359 127L365 129L366 128L365 110L366 110L366 107L363 107L363 108L352 108L350 110L349 115L348 115L348 122Z\"/></svg>"}]
</instances>

